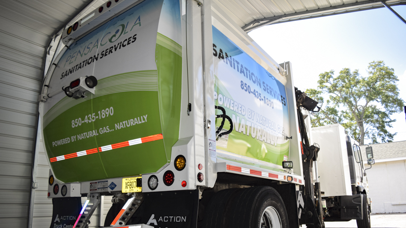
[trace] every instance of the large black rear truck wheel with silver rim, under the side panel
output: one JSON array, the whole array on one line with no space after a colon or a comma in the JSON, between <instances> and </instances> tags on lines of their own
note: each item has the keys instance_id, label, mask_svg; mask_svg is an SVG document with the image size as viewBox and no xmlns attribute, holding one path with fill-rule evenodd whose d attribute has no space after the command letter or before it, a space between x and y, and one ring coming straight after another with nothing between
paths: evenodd
<instances>
[{"instance_id":1,"label":"large black rear truck wheel with silver rim, under the side panel","mask_svg":"<svg viewBox=\"0 0 406 228\"><path fill-rule=\"evenodd\" d=\"M232 228L287 228L288 214L279 193L273 187L244 188L228 205L225 215Z\"/></svg>"}]
</instances>

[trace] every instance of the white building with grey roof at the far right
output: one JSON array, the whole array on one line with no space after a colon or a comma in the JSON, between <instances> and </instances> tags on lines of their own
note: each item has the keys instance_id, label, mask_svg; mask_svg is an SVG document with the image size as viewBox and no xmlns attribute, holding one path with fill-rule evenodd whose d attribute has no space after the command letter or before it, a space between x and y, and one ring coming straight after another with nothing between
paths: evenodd
<instances>
[{"instance_id":1,"label":"white building with grey roof at the far right","mask_svg":"<svg viewBox=\"0 0 406 228\"><path fill-rule=\"evenodd\" d=\"M366 164L365 147L361 146ZM375 164L366 170L372 213L406 212L406 141L370 145Z\"/></svg>"}]
</instances>

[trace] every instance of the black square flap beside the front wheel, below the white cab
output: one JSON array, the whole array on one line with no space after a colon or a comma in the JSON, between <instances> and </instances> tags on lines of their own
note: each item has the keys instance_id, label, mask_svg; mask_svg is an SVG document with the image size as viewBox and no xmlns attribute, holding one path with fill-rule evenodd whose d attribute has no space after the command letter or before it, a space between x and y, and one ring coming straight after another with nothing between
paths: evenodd
<instances>
[{"instance_id":1,"label":"black square flap beside the front wheel, below the white cab","mask_svg":"<svg viewBox=\"0 0 406 228\"><path fill-rule=\"evenodd\" d=\"M362 195L340 197L341 219L362 219Z\"/></svg>"}]
</instances>

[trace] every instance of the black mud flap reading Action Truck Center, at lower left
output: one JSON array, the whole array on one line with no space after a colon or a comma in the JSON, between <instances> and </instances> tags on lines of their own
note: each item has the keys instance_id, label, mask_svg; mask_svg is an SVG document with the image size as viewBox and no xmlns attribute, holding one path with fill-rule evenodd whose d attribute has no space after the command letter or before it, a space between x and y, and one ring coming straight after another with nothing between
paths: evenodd
<instances>
[{"instance_id":1,"label":"black mud flap reading Action Truck Center, at lower left","mask_svg":"<svg viewBox=\"0 0 406 228\"><path fill-rule=\"evenodd\" d=\"M72 228L82 210L81 198L53 198L52 205L52 221L49 227Z\"/></svg>"}]
</instances>

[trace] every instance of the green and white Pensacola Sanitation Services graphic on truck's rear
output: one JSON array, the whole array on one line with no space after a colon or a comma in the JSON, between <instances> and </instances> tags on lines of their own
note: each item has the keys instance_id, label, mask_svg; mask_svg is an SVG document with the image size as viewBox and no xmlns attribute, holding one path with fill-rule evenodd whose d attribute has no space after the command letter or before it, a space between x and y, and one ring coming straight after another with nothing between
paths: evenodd
<instances>
[{"instance_id":1,"label":"green and white Pensacola Sanitation Services graphic on truck's rear","mask_svg":"<svg viewBox=\"0 0 406 228\"><path fill-rule=\"evenodd\" d=\"M90 75L98 84L84 98L59 93L44 102L42 128L56 178L69 182L138 175L156 172L170 160L179 138L181 41L179 1L154 0L70 46L49 90Z\"/></svg>"}]
</instances>

